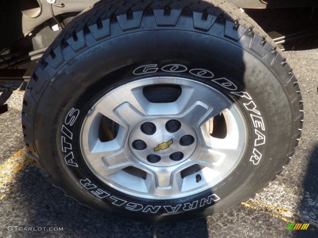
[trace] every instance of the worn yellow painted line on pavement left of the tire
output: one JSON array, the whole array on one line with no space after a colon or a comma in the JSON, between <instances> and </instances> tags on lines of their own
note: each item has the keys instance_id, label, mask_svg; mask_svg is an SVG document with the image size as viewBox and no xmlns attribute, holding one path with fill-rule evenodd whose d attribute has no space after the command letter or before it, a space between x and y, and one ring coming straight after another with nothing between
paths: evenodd
<instances>
[{"instance_id":1,"label":"worn yellow painted line on pavement left of the tire","mask_svg":"<svg viewBox=\"0 0 318 238\"><path fill-rule=\"evenodd\" d=\"M0 165L0 189L3 191L9 191L10 183L14 182L14 177L17 173L25 169L27 165L31 164L31 158L26 148L20 149L3 164ZM6 188L6 189L4 189ZM2 200L5 195L0 195Z\"/></svg>"}]
</instances>

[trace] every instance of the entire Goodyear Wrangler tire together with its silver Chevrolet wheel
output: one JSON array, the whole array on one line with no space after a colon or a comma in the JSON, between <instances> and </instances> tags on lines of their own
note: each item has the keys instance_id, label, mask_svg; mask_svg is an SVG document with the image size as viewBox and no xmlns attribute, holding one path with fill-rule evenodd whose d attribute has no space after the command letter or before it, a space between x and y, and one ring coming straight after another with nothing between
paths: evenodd
<instances>
[{"instance_id":1,"label":"entire Goodyear Wrangler tire together with its silver Chevrolet wheel","mask_svg":"<svg viewBox=\"0 0 318 238\"><path fill-rule=\"evenodd\" d=\"M55 187L146 222L246 201L289 162L302 122L280 50L215 0L95 4L42 56L22 109L27 148Z\"/></svg>"}]
</instances>

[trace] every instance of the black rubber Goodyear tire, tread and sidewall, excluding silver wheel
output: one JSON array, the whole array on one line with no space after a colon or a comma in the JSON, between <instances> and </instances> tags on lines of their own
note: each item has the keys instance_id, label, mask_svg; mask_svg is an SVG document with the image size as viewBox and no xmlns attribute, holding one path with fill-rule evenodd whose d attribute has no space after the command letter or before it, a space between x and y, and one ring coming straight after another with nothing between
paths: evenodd
<instances>
[{"instance_id":1,"label":"black rubber Goodyear tire, tread and sidewall, excluding silver wheel","mask_svg":"<svg viewBox=\"0 0 318 238\"><path fill-rule=\"evenodd\" d=\"M211 189L172 200L142 199L108 187L86 166L78 142L81 120L107 91L145 77L133 72L146 64L158 68L147 76L185 76L211 85L228 95L244 115L249 137L245 154L235 170ZM167 64L207 69L218 80L189 71L162 71ZM302 123L300 89L285 57L245 13L216 0L95 4L69 23L42 56L22 108L26 146L55 187L90 208L145 222L201 218L246 201L289 162ZM68 142L74 159L68 164L61 150L63 125L73 133ZM100 189L105 197L97 197L92 189Z\"/></svg>"}]
</instances>

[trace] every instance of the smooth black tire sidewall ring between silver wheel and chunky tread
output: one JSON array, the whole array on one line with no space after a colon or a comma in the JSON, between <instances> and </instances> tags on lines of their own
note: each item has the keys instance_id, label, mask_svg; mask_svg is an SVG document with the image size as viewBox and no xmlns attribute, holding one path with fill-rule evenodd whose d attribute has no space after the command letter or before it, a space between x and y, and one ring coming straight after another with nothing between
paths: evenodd
<instances>
[{"instance_id":1,"label":"smooth black tire sidewall ring between silver wheel and chunky tread","mask_svg":"<svg viewBox=\"0 0 318 238\"><path fill-rule=\"evenodd\" d=\"M166 39L166 42L162 41L163 39ZM196 47L180 54L180 49L175 49L174 42L178 42L184 49L189 49L194 44ZM158 45L158 49L153 49L153 45ZM91 49L79 53L74 58L80 60L59 69L52 78L53 83L41 96L36 111L38 116L35 116L36 123L43 125L40 129L35 128L35 137L43 138L43 141L36 142L39 155L48 157L45 167L50 168L54 182L75 199L89 207L130 220L189 220L220 212L247 199L268 181L268 177L272 176L280 165L279 158L285 156L288 146L286 140L289 142L290 138L290 133L281 129L282 124L288 125L290 121L287 106L289 104L277 77L266 66L266 62L262 62L237 44L190 31L136 32L110 39L107 44L101 42L94 48L99 46L99 50L88 55L87 52ZM149 64L156 65L158 70L134 75L135 69ZM163 71L162 68L169 64L184 65L188 70L180 73ZM206 69L213 73L213 77L193 75L190 69ZM244 156L232 173L211 189L172 200L142 199L108 187L85 166L78 138L88 109L107 91L125 82L149 76L182 76L206 83L227 95L241 111L248 137ZM255 110L247 110L245 105L252 105L251 102L256 105L255 110L260 115L255 114ZM277 104L276 109L273 109ZM69 120L76 116L76 110L79 114L71 126ZM280 111L279 117L277 111ZM255 118L259 118L259 121ZM277 123L277 118L283 121ZM78 167L66 164L65 156L70 150L63 151L62 148L63 125L73 135L73 139L68 142L72 144L72 161ZM258 137L255 129L267 139L257 147L255 139ZM257 149L262 155L257 164L253 163L254 160L251 161L253 149ZM59 178L57 174L63 176ZM87 188L80 182L83 180L89 181ZM97 190L101 193L104 191L105 194L101 196L105 197L100 198L96 192L93 193ZM136 209L141 208L139 204L142 208L133 211L134 204ZM202 204L203 206L200 206ZM184 211L183 208L189 210ZM172 212L169 213L167 209Z\"/></svg>"}]
</instances>

